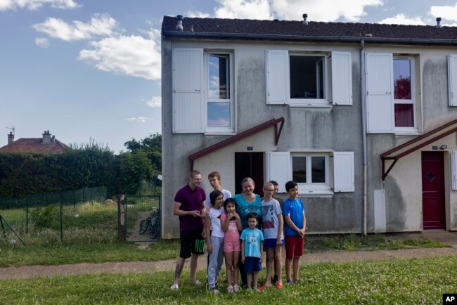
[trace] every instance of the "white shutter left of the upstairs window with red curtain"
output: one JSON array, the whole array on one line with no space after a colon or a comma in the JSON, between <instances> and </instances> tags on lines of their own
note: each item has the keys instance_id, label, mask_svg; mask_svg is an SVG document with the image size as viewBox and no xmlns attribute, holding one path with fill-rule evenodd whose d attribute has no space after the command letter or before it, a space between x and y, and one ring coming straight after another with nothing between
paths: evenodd
<instances>
[{"instance_id":1,"label":"white shutter left of the upstairs window with red curtain","mask_svg":"<svg viewBox=\"0 0 457 305\"><path fill-rule=\"evenodd\" d=\"M392 53L366 53L366 115L368 133L394 132Z\"/></svg>"}]
</instances>

